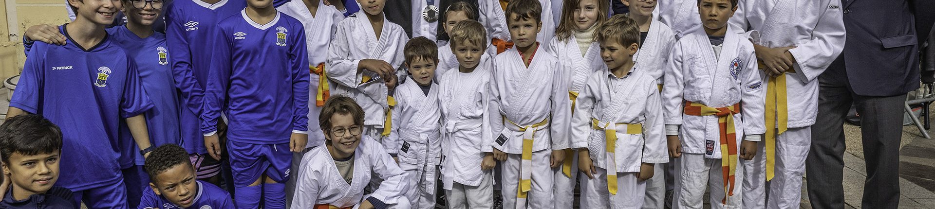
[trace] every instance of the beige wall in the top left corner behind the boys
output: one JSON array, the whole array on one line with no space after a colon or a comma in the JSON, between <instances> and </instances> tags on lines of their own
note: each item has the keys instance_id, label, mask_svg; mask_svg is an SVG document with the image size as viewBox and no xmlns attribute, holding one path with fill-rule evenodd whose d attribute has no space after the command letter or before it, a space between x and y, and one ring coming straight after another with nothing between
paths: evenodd
<instances>
[{"instance_id":1,"label":"beige wall in the top left corner behind the boys","mask_svg":"<svg viewBox=\"0 0 935 209\"><path fill-rule=\"evenodd\" d=\"M36 24L68 22L65 0L0 0L0 78L19 75L26 57L22 33Z\"/></svg>"}]
</instances>

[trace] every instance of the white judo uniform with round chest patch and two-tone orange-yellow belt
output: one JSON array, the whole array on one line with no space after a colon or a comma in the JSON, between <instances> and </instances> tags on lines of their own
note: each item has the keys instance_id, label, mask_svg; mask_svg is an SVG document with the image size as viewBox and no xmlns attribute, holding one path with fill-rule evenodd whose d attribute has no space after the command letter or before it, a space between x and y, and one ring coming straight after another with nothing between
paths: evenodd
<instances>
[{"instance_id":1,"label":"white judo uniform with round chest patch and two-tone orange-yellow belt","mask_svg":"<svg viewBox=\"0 0 935 209\"><path fill-rule=\"evenodd\" d=\"M673 208L701 208L706 186L711 188L712 208L740 208L744 173L737 160L741 140L758 142L760 134L766 132L765 84L756 71L753 44L741 35L729 33L732 26L727 27L728 33L721 45L713 46L708 35L698 31L685 35L671 49L662 101L666 110L666 134L679 135L683 152L676 160L679 171ZM685 108L689 103L693 104ZM710 110L713 108L718 109ZM703 115L698 112L706 111L724 117L698 116ZM719 120L724 121L725 132L720 131ZM734 127L727 126L731 120ZM728 138L731 136L733 138ZM726 144L734 140L737 147L727 148L722 140ZM725 164L731 164L729 167L736 170L733 180L725 182L727 175L722 175L725 173L722 160L728 160ZM725 204L722 201L730 191L733 195L726 198Z\"/></svg>"}]
</instances>

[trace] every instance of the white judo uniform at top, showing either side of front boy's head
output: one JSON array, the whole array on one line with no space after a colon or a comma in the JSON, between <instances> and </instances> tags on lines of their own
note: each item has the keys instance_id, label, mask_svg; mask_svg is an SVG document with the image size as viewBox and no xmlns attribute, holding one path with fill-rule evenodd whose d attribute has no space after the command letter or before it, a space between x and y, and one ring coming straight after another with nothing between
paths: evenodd
<instances>
[{"instance_id":1,"label":"white judo uniform at top, showing either side of front boy's head","mask_svg":"<svg viewBox=\"0 0 935 209\"><path fill-rule=\"evenodd\" d=\"M542 30L539 31L539 34L536 36L536 41L539 41L539 44L543 46L548 45L549 41L555 36L555 27L558 26L558 22L553 19L552 9L552 0L539 0L542 6ZM487 30L487 36L493 39L500 39L502 41L511 42L510 28L507 26L507 15L506 7L500 6L500 2L496 0L481 0L478 1L478 10L480 11L480 18L478 21L481 21L483 28ZM561 16L561 14L557 14ZM487 49L487 54L494 56L496 55L496 43L491 42L494 47ZM548 47L548 46L546 46Z\"/></svg>"}]
</instances>

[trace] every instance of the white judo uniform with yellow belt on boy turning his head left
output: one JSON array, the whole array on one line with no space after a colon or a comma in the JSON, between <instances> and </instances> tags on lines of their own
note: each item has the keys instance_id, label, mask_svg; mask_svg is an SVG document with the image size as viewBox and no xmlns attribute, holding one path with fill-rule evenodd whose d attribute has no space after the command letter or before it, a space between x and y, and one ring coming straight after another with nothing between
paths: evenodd
<instances>
[{"instance_id":1,"label":"white judo uniform with yellow belt on boy turning his head left","mask_svg":"<svg viewBox=\"0 0 935 209\"><path fill-rule=\"evenodd\" d=\"M571 146L586 147L597 169L594 179L581 177L581 207L640 208L647 183L638 179L641 164L669 162L659 89L640 68L620 78L603 69L587 78L571 120Z\"/></svg>"}]
</instances>

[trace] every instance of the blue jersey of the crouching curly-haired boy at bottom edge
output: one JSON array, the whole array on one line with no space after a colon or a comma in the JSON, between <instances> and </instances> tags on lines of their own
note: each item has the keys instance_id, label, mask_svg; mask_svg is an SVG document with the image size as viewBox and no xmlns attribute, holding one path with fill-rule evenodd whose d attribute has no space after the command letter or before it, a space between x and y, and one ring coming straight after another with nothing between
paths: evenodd
<instances>
[{"instance_id":1,"label":"blue jersey of the crouching curly-haired boy at bottom edge","mask_svg":"<svg viewBox=\"0 0 935 209\"><path fill-rule=\"evenodd\" d=\"M224 189L218 188L210 183L201 180L195 180L198 184L198 190L192 191L192 206L188 208L199 209L234 209L234 202L231 202L231 195ZM177 209L181 208L165 197L156 195L152 188L143 190L143 198L139 200L139 209Z\"/></svg>"}]
</instances>

